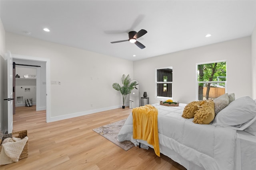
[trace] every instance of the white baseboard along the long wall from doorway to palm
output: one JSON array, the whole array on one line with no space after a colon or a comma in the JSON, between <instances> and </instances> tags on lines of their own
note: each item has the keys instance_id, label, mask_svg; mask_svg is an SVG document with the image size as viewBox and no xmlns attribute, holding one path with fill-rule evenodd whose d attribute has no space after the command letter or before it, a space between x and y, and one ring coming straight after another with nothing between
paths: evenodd
<instances>
[{"instance_id":1,"label":"white baseboard along the long wall from doorway to palm","mask_svg":"<svg viewBox=\"0 0 256 170\"><path fill-rule=\"evenodd\" d=\"M125 106L129 106L129 105L127 104ZM118 109L118 108L122 108L122 105L110 106L110 107L104 107L104 108L100 108L100 109L94 109L94 110L88 110L88 111L81 111L81 112L77 112L77 113L71 113L71 114L68 114L68 115L50 117L49 121L47 121L47 122L59 121L59 120L63 120L63 119L69 119L69 118L73 118L73 117L89 115L89 114L98 113L98 112L101 112L101 111L108 111L108 110Z\"/></svg>"}]
</instances>

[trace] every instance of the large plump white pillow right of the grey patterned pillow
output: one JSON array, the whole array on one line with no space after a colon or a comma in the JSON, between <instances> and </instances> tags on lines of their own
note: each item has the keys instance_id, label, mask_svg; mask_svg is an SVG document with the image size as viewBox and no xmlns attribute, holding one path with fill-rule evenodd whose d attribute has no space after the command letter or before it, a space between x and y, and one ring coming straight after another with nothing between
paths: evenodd
<instances>
[{"instance_id":1,"label":"large plump white pillow right of the grey patterned pillow","mask_svg":"<svg viewBox=\"0 0 256 170\"><path fill-rule=\"evenodd\" d=\"M244 130L256 120L256 103L249 96L238 98L222 109L212 125Z\"/></svg>"}]
</instances>

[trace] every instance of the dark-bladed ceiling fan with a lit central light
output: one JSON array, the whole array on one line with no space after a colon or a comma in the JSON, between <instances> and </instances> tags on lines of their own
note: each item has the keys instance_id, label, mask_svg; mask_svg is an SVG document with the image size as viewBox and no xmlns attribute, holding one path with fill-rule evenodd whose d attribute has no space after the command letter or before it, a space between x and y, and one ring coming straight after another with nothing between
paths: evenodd
<instances>
[{"instance_id":1,"label":"dark-bladed ceiling fan with a lit central light","mask_svg":"<svg viewBox=\"0 0 256 170\"><path fill-rule=\"evenodd\" d=\"M113 41L113 42L110 42L110 43L121 43L121 42L124 42L124 41L130 41L130 43L136 44L140 49L144 49L145 46L142 43L140 43L139 41L137 41L137 39L140 38L141 36L145 35L147 32L148 31L146 31L145 29L141 29L139 32L130 31L128 33L129 39L121 40L121 41Z\"/></svg>"}]
</instances>

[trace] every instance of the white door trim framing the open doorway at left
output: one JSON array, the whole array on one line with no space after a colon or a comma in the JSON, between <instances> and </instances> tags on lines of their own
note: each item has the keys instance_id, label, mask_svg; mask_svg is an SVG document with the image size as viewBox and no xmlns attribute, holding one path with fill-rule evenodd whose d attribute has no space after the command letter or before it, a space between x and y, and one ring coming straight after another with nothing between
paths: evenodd
<instances>
[{"instance_id":1,"label":"white door trim framing the open doorway at left","mask_svg":"<svg viewBox=\"0 0 256 170\"><path fill-rule=\"evenodd\" d=\"M50 59L31 57L26 55L12 55L13 59L42 61L46 62L46 122L50 122L51 113L51 79L50 79Z\"/></svg>"}]
</instances>

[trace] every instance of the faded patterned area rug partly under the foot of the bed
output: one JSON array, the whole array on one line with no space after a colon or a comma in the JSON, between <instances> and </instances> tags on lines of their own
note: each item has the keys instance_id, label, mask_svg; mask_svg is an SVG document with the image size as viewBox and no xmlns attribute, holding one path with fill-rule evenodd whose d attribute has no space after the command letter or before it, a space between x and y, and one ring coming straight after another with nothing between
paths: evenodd
<instances>
[{"instance_id":1,"label":"faded patterned area rug partly under the foot of the bed","mask_svg":"<svg viewBox=\"0 0 256 170\"><path fill-rule=\"evenodd\" d=\"M127 151L134 147L134 144L131 141L118 142L117 140L117 135L123 127L125 121L126 119L123 119L92 130L103 136L104 138L108 139L112 143L116 144L118 147Z\"/></svg>"}]
</instances>

